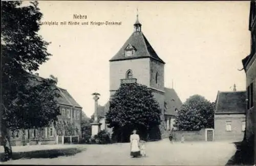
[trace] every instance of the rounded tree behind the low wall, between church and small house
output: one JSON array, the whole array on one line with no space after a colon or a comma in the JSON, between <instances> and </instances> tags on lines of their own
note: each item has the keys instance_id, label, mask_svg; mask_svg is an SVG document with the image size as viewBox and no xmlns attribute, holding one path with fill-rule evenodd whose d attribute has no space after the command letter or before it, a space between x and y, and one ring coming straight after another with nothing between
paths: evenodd
<instances>
[{"instance_id":1,"label":"rounded tree behind the low wall, between church and small house","mask_svg":"<svg viewBox=\"0 0 256 166\"><path fill-rule=\"evenodd\" d=\"M215 103L195 94L181 106L174 127L185 131L214 128L214 109Z\"/></svg>"}]
</instances>

